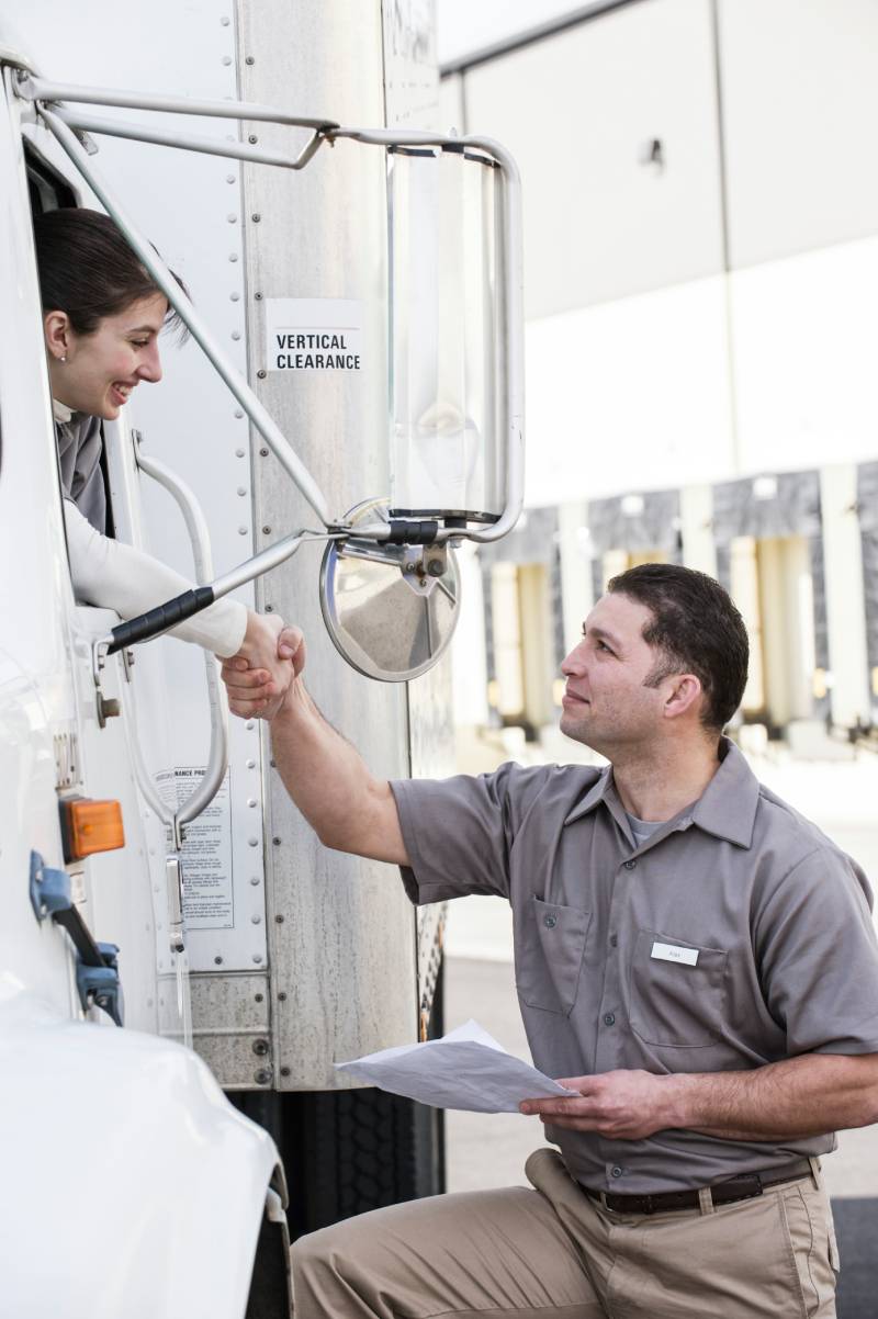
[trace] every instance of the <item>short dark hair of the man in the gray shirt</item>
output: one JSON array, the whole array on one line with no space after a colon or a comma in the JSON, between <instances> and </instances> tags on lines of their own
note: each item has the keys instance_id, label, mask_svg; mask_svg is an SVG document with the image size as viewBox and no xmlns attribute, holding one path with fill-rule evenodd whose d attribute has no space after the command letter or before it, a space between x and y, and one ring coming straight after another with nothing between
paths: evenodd
<instances>
[{"instance_id":1,"label":"short dark hair of the man in the gray shirt","mask_svg":"<svg viewBox=\"0 0 878 1319\"><path fill-rule=\"evenodd\" d=\"M653 615L643 640L659 660L646 686L658 687L672 673L693 673L704 690L701 723L721 732L741 704L750 657L744 619L728 591L707 572L679 563L642 563L620 572L606 590L645 604Z\"/></svg>"}]
</instances>

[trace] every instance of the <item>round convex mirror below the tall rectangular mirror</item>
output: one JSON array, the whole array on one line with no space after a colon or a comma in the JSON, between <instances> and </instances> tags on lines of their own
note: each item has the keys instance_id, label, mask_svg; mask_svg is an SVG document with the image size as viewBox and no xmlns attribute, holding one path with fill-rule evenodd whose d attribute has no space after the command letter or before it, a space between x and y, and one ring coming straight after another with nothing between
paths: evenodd
<instances>
[{"instance_id":1,"label":"round convex mirror below the tall rectangular mirror","mask_svg":"<svg viewBox=\"0 0 878 1319\"><path fill-rule=\"evenodd\" d=\"M361 504L348 520L374 524L385 504ZM419 565L422 557L436 575ZM320 566L320 607L336 650L359 673L380 682L418 678L446 652L457 624L455 553L357 541L356 534L331 541Z\"/></svg>"}]
</instances>

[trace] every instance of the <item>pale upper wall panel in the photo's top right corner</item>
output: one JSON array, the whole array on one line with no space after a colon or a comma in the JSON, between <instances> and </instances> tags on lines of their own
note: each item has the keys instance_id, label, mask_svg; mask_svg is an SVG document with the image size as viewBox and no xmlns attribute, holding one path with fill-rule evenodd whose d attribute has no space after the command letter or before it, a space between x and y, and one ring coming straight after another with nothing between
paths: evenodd
<instances>
[{"instance_id":1,"label":"pale upper wall panel in the photo's top right corner","mask_svg":"<svg viewBox=\"0 0 878 1319\"><path fill-rule=\"evenodd\" d=\"M875 233L873 0L720 0L718 12L732 265Z\"/></svg>"}]
</instances>

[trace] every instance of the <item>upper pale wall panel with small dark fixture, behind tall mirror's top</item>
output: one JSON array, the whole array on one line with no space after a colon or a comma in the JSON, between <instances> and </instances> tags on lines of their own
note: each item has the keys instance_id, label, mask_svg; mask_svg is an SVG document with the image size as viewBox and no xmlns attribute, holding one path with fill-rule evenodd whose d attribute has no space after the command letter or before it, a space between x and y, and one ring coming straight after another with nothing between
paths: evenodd
<instances>
[{"instance_id":1,"label":"upper pale wall panel with small dark fixture, behind tall mirror's top","mask_svg":"<svg viewBox=\"0 0 878 1319\"><path fill-rule=\"evenodd\" d=\"M707 0L646 0L465 75L521 169L529 319L721 270L711 51Z\"/></svg>"}]
</instances>

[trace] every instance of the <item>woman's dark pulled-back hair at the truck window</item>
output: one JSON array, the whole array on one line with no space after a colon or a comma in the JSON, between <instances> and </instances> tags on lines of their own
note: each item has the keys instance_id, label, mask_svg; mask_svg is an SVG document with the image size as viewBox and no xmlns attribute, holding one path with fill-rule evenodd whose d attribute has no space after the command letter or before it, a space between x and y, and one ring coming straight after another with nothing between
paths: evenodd
<instances>
[{"instance_id":1,"label":"woman's dark pulled-back hair at the truck window","mask_svg":"<svg viewBox=\"0 0 878 1319\"><path fill-rule=\"evenodd\" d=\"M94 334L104 317L119 315L132 302L161 293L115 220L102 211L46 211L34 216L33 232L42 310L66 311L79 335ZM179 276L174 278L186 291ZM173 307L167 309L165 324L185 338Z\"/></svg>"}]
</instances>

